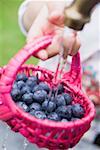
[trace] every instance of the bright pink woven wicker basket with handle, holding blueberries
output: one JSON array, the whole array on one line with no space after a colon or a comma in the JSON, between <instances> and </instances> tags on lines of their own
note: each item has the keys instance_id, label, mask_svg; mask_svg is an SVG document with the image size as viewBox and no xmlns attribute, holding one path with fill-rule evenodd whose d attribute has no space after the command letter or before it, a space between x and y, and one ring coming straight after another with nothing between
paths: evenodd
<instances>
[{"instance_id":1,"label":"bright pink woven wicker basket with handle, holding blueberries","mask_svg":"<svg viewBox=\"0 0 100 150\"><path fill-rule=\"evenodd\" d=\"M51 150L68 149L78 143L83 134L90 128L95 115L93 104L81 91L79 54L72 58L71 69L63 75L61 82L65 90L73 94L74 103L79 102L84 107L86 113L82 119L68 123L36 119L18 108L10 96L18 72L24 72L28 76L38 73L41 80L45 80L50 86L54 84L53 72L39 66L22 66L30 56L46 48L51 42L52 37L46 36L26 45L6 66L0 80L0 119L6 121L13 131L20 132L39 147L47 147Z\"/></svg>"}]
</instances>

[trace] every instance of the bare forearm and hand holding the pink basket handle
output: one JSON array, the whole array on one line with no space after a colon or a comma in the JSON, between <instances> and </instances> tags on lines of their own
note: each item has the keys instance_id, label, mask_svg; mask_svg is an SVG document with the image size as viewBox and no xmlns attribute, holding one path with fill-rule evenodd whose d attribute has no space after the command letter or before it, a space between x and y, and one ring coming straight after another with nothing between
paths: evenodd
<instances>
[{"instance_id":1,"label":"bare forearm and hand holding the pink basket handle","mask_svg":"<svg viewBox=\"0 0 100 150\"><path fill-rule=\"evenodd\" d=\"M75 55L80 48L80 41L74 33L64 34L64 9L65 1L62 2L45 2L32 1L23 17L23 23L28 31L27 43L32 42L35 38L52 34L53 41L47 49L43 49L37 53L36 57L46 60L57 55L61 49L61 42L64 48L65 57L67 55ZM68 29L66 29L68 30ZM70 47L70 39L74 38Z\"/></svg>"}]
</instances>

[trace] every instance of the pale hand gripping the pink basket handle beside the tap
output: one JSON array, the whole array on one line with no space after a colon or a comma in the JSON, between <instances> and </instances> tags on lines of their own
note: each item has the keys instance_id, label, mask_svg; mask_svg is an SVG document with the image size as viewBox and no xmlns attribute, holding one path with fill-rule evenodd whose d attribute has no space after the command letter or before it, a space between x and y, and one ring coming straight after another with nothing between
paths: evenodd
<instances>
[{"instance_id":1,"label":"pale hand gripping the pink basket handle beside the tap","mask_svg":"<svg viewBox=\"0 0 100 150\"><path fill-rule=\"evenodd\" d=\"M46 60L52 56L55 56L59 53L60 50L60 43L59 38L62 36L64 50L66 51L66 56L68 54L74 55L79 47L80 42L78 38L73 43L72 51L69 51L69 42L71 37L73 37L73 33L70 35L63 35L64 30L64 3L61 5L48 5L49 13L47 10L46 5L41 9L40 13L38 14L37 18L35 19L33 25L27 36L27 42L32 42L34 38L40 37L43 35L52 34L54 35L53 42L46 50L41 50L37 53L38 58L42 60ZM59 11L58 11L59 10Z\"/></svg>"}]
</instances>

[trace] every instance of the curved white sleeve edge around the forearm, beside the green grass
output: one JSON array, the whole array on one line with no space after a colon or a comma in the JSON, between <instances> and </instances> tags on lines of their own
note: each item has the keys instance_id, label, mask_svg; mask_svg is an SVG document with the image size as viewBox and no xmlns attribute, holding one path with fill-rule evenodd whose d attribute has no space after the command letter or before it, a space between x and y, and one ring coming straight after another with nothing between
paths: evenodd
<instances>
[{"instance_id":1,"label":"curved white sleeve edge around the forearm, beside the green grass","mask_svg":"<svg viewBox=\"0 0 100 150\"><path fill-rule=\"evenodd\" d=\"M25 0L19 7L19 10L18 10L18 24L20 26L20 29L22 31L22 33L26 36L27 35L27 31L24 27L24 24L23 24L23 15L28 7L28 4L30 1L33 1L33 0Z\"/></svg>"}]
</instances>

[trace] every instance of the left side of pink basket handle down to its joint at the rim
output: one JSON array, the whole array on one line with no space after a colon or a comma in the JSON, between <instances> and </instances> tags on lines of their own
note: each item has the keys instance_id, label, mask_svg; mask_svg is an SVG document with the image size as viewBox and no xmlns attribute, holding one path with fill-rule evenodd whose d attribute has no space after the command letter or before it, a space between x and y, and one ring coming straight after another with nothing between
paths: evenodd
<instances>
[{"instance_id":1,"label":"left side of pink basket handle down to its joint at the rim","mask_svg":"<svg viewBox=\"0 0 100 150\"><path fill-rule=\"evenodd\" d=\"M20 69L20 66L32 55L35 55L39 50L45 49L51 42L51 36L45 36L36 40L34 43L27 44L21 51L10 60L6 66L4 72L1 69L0 79L0 120L7 121L13 117L13 112L8 106L8 102L5 101L5 97L10 91L13 84L13 80L16 73Z\"/></svg>"}]
</instances>

